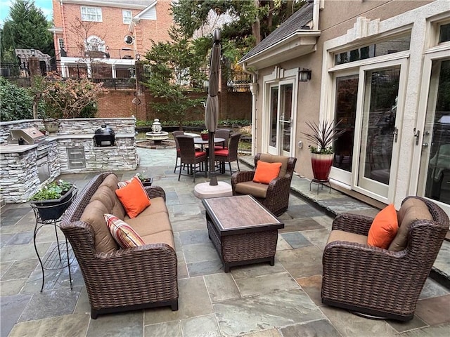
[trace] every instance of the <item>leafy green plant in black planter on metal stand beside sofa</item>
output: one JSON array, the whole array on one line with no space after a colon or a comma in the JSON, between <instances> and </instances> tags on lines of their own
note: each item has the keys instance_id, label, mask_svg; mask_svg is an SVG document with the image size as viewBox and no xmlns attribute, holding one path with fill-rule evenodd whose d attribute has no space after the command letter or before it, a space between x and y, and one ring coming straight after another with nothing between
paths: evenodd
<instances>
[{"instance_id":1,"label":"leafy green plant in black planter on metal stand beside sofa","mask_svg":"<svg viewBox=\"0 0 450 337\"><path fill-rule=\"evenodd\" d=\"M70 206L75 190L75 185L60 179L41 187L29 201L37 209L41 220L58 220Z\"/></svg>"}]
</instances>

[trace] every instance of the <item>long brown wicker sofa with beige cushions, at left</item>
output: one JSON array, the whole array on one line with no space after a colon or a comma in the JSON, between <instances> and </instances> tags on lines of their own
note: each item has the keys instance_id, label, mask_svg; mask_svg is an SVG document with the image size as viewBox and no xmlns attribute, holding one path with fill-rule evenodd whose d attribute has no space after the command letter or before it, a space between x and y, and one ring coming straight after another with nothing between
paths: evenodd
<instances>
[{"instance_id":1,"label":"long brown wicker sofa with beige cushions, at left","mask_svg":"<svg viewBox=\"0 0 450 337\"><path fill-rule=\"evenodd\" d=\"M61 229L82 271L91 317L170 305L178 310L177 260L172 225L161 187L145 187L151 205L130 219L116 197L114 173L93 178L66 211ZM104 213L127 222L145 246L120 249Z\"/></svg>"}]
</instances>

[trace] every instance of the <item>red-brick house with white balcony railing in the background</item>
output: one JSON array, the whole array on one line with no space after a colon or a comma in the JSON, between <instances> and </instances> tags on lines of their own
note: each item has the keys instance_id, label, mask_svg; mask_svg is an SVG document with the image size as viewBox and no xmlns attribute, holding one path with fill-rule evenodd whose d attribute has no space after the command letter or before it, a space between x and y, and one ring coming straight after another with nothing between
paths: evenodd
<instances>
[{"instance_id":1,"label":"red-brick house with white balcony railing in the background","mask_svg":"<svg viewBox=\"0 0 450 337\"><path fill-rule=\"evenodd\" d=\"M170 0L53 0L53 41L63 77L129 78L129 68L169 40ZM75 74L77 72L77 74Z\"/></svg>"}]
</instances>

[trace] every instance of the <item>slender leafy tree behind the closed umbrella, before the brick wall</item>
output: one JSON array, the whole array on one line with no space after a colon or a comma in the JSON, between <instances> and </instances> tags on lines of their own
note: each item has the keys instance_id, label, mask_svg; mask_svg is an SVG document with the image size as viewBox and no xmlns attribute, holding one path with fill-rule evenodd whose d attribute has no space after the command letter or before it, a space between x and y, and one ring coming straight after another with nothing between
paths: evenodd
<instances>
[{"instance_id":1,"label":"slender leafy tree behind the closed umbrella, before the brick wall","mask_svg":"<svg viewBox=\"0 0 450 337\"><path fill-rule=\"evenodd\" d=\"M205 46L203 40L195 43L186 39L176 27L170 29L169 36L172 41L152 41L153 46L146 53L146 69L150 75L143 85L156 98L150 105L160 114L160 119L177 121L181 128L186 110L205 100L192 97L192 93L203 91Z\"/></svg>"}]
</instances>

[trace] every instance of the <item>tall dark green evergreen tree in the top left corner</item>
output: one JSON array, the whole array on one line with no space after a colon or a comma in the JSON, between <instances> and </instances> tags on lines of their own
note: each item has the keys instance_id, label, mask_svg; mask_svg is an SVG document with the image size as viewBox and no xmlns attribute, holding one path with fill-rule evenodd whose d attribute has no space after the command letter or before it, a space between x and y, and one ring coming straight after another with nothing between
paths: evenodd
<instances>
[{"instance_id":1,"label":"tall dark green evergreen tree in the top left corner","mask_svg":"<svg viewBox=\"0 0 450 337\"><path fill-rule=\"evenodd\" d=\"M14 49L37 49L54 55L53 37L44 13L34 6L33 0L15 0L11 4L9 19L1 29L1 61L15 60Z\"/></svg>"}]
</instances>

